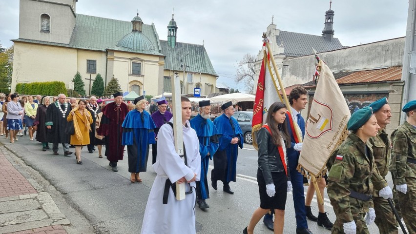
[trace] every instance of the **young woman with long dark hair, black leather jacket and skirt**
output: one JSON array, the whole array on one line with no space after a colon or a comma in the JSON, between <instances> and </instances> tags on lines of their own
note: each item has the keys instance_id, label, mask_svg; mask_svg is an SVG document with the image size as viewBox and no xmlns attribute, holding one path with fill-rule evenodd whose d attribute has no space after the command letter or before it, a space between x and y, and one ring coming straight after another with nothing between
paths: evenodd
<instances>
[{"instance_id":1,"label":"young woman with long dark hair, black leather jacket and skirt","mask_svg":"<svg viewBox=\"0 0 416 234\"><path fill-rule=\"evenodd\" d=\"M274 210L274 233L282 234L285 222L285 204L287 191L291 190L288 177L286 148L290 147L290 137L286 124L287 107L281 102L270 105L266 124L257 132L258 170L257 182L260 194L260 207L250 219L244 234L252 234L258 221Z\"/></svg>"}]
</instances>

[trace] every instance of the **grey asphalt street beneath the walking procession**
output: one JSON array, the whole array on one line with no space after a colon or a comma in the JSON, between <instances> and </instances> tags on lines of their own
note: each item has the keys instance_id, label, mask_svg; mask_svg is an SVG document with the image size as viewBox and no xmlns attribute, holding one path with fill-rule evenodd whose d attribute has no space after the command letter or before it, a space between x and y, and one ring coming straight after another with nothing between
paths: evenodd
<instances>
[{"instance_id":1,"label":"grey asphalt street beneath the walking procession","mask_svg":"<svg viewBox=\"0 0 416 234\"><path fill-rule=\"evenodd\" d=\"M53 193L52 198L70 221L71 227L79 233L129 234L140 231L147 197L156 175L150 163L148 171L140 175L143 183L133 184L127 171L127 155L125 160L119 162L119 172L114 173L105 158L99 158L98 153L89 154L86 148L82 152L83 165L78 165L74 155L63 156L62 146L60 155L54 156L52 150L42 152L42 145L36 141L29 141L29 137L26 136L19 137L15 144L11 144L4 137L0 138L0 142L38 171L50 182L53 189L56 188L58 192ZM195 208L197 233L241 233L247 226L252 212L258 207L258 186L255 181L257 152L250 145L246 145L240 150L237 163L237 182L230 184L235 194L222 192L222 184L219 182L218 191L210 187L210 199L207 200L210 208L207 211ZM390 178L389 180L391 183ZM334 221L335 216L326 194L325 201L329 218ZM312 212L317 215L316 200L312 202L312 206L315 207ZM330 233L329 230L318 227L316 222L308 223L314 234ZM290 194L286 205L284 233L295 233L295 227ZM372 234L378 233L374 224L370 225L369 229ZM256 233L272 232L260 221Z\"/></svg>"}]
</instances>

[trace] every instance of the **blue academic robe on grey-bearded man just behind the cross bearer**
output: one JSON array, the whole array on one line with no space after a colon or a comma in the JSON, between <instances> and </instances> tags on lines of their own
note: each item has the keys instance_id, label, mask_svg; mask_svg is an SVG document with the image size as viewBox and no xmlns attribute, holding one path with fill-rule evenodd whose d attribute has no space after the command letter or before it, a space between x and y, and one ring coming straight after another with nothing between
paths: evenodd
<instances>
[{"instance_id":1,"label":"blue academic robe on grey-bearded man just behind the cross bearer","mask_svg":"<svg viewBox=\"0 0 416 234\"><path fill-rule=\"evenodd\" d=\"M199 114L189 122L198 136L199 154L201 155L201 179L196 183L197 197L198 199L207 199L209 198L207 180L209 159L212 159L218 149L217 128L211 120L205 119Z\"/></svg>"}]
</instances>

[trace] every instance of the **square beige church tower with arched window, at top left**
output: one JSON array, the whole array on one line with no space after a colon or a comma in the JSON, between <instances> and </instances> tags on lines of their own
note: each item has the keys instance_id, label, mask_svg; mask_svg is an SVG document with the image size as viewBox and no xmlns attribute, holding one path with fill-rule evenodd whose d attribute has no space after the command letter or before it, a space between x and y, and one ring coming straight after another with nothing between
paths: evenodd
<instances>
[{"instance_id":1,"label":"square beige church tower with arched window, at top left","mask_svg":"<svg viewBox=\"0 0 416 234\"><path fill-rule=\"evenodd\" d=\"M68 44L78 0L20 0L19 39Z\"/></svg>"}]
</instances>

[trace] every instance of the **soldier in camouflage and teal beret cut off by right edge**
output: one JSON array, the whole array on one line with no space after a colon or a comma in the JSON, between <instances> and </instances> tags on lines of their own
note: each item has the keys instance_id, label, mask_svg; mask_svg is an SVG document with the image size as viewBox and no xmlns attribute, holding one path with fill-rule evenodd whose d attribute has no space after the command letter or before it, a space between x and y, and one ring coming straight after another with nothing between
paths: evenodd
<instances>
[{"instance_id":1,"label":"soldier in camouflage and teal beret cut off by right edge","mask_svg":"<svg viewBox=\"0 0 416 234\"><path fill-rule=\"evenodd\" d=\"M406 121L392 133L391 172L409 233L416 233L416 100L403 107Z\"/></svg>"}]
</instances>

